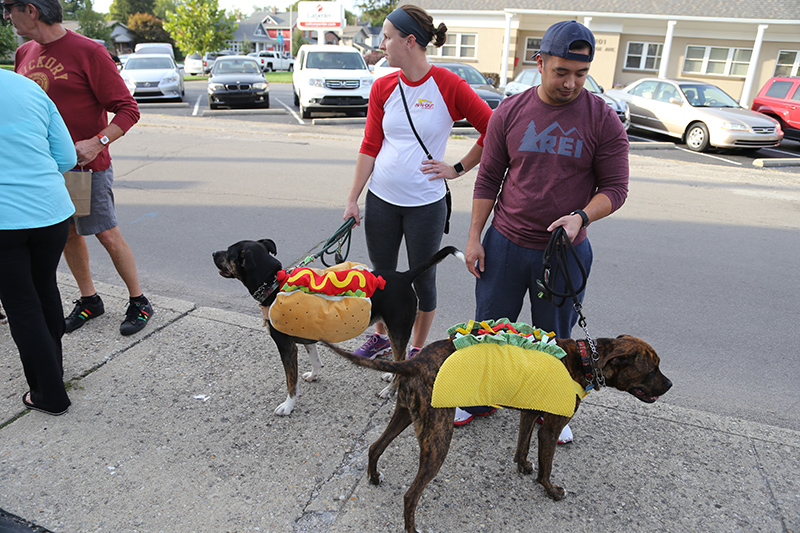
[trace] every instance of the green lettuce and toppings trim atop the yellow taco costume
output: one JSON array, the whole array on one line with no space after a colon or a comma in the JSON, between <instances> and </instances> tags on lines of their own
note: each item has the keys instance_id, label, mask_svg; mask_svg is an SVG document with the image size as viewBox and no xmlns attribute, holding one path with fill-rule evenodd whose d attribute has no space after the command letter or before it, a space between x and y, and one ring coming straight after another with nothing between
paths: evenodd
<instances>
[{"instance_id":1,"label":"green lettuce and toppings trim atop the yellow taco costume","mask_svg":"<svg viewBox=\"0 0 800 533\"><path fill-rule=\"evenodd\" d=\"M503 325L505 327L502 327ZM484 320L483 322L470 320L469 323L450 327L447 334L453 339L456 350L475 344L492 343L539 350L557 359L561 359L567 354L555 343L555 335L552 332L535 328L525 322L511 322L507 318Z\"/></svg>"}]
</instances>

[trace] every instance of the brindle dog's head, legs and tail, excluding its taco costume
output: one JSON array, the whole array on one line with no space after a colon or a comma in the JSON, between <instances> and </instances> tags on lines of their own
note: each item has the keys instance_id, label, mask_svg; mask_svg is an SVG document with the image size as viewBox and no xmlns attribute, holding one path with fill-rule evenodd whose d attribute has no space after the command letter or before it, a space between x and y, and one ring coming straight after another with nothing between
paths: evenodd
<instances>
[{"instance_id":1,"label":"brindle dog's head, legs and tail, excluding its taco costume","mask_svg":"<svg viewBox=\"0 0 800 533\"><path fill-rule=\"evenodd\" d=\"M572 379L586 387L584 370L579 347L572 339L558 339L558 345L567 352L561 361L567 367ZM326 343L327 344L327 343ZM370 483L378 485L382 474L378 472L378 459L387 446L412 422L419 441L419 471L404 498L405 530L414 532L414 513L417 502L425 487L436 477L450 449L453 436L453 417L455 408L431 407L433 383L439 368L454 351L451 340L441 340L429 344L413 359L403 362L369 361L354 356L336 346L328 344L336 353L359 366L382 372L392 372L399 377L397 405L392 419L383 435L369 448L367 475ZM605 385L628 392L647 403L655 402L659 396L672 387L672 382L659 370L659 358L655 350L643 340L629 335L616 339L598 339L598 366L605 376ZM598 387L597 383L594 383ZM580 399L576 396L577 411ZM536 480L544 486L547 494L560 500L566 492L550 480L553 456L561 430L570 417L557 416L541 411L520 410L519 437L514 461L517 470L523 474L533 473L528 461L531 435L536 419L544 417L539 429L539 470Z\"/></svg>"}]
</instances>

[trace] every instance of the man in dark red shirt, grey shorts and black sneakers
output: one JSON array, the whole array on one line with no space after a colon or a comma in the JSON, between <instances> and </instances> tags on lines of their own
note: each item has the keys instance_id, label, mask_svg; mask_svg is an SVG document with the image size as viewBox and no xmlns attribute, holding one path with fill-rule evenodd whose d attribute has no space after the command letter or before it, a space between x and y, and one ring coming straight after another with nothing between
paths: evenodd
<instances>
[{"instance_id":1,"label":"man in dark red shirt, grey shorts and black sneakers","mask_svg":"<svg viewBox=\"0 0 800 533\"><path fill-rule=\"evenodd\" d=\"M3 2L4 18L19 35L31 39L17 49L14 70L36 81L55 102L75 142L79 169L92 171L91 213L73 218L64 248L67 265L81 292L66 317L66 332L105 311L92 281L84 239L85 235L95 235L128 288L130 303L120 333L131 335L147 324L153 307L142 293L133 252L117 225L108 145L138 122L139 107L108 51L61 25L59 0ZM110 123L107 113L114 114Z\"/></svg>"}]
</instances>

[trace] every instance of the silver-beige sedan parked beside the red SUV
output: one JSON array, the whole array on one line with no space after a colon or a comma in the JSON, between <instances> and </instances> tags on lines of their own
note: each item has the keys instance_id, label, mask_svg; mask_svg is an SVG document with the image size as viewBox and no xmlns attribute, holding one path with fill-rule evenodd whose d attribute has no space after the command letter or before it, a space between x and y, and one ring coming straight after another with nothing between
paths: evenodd
<instances>
[{"instance_id":1,"label":"silver-beige sedan parked beside the red SUV","mask_svg":"<svg viewBox=\"0 0 800 533\"><path fill-rule=\"evenodd\" d=\"M644 78L610 96L628 103L631 126L681 139L690 150L758 150L783 140L780 125L702 81Z\"/></svg>"}]
</instances>

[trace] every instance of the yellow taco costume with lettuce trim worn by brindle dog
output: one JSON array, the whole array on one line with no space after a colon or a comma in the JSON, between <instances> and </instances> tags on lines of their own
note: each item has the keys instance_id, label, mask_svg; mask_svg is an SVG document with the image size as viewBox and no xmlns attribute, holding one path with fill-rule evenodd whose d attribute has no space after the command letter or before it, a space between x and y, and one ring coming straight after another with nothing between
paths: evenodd
<instances>
[{"instance_id":1,"label":"yellow taco costume with lettuce trim worn by brindle dog","mask_svg":"<svg viewBox=\"0 0 800 533\"><path fill-rule=\"evenodd\" d=\"M508 319L457 324L447 330L456 351L433 385L433 407L494 405L560 416L586 396L560 361L553 333Z\"/></svg>"}]
</instances>

